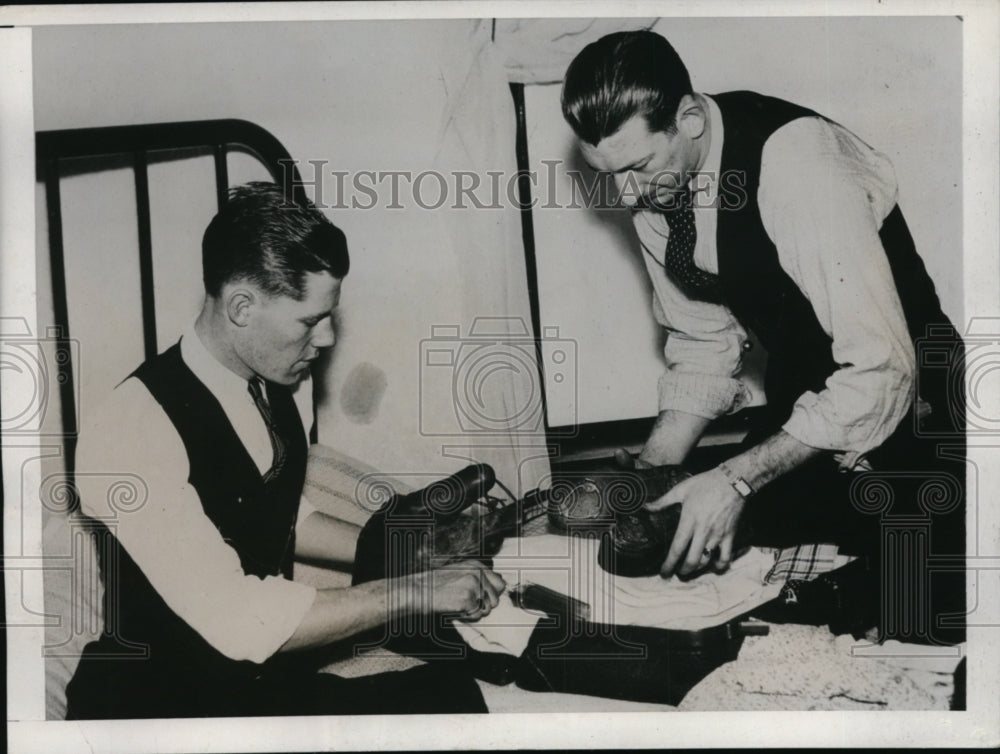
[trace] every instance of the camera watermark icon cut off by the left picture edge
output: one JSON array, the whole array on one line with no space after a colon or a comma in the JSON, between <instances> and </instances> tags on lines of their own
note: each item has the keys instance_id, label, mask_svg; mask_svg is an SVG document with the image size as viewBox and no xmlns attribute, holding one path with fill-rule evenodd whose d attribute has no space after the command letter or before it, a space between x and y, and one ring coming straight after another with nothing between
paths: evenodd
<instances>
[{"instance_id":1,"label":"camera watermark icon cut off by the left picture edge","mask_svg":"<svg viewBox=\"0 0 1000 754\"><path fill-rule=\"evenodd\" d=\"M44 338L31 333L23 317L0 317L0 375L10 400L3 405L0 433L3 435L66 435L79 428L79 384L70 367L80 363L80 343L59 327L46 329ZM54 394L72 389L72 422L48 426L45 421ZM72 427L70 430L64 427Z\"/></svg>"}]
</instances>

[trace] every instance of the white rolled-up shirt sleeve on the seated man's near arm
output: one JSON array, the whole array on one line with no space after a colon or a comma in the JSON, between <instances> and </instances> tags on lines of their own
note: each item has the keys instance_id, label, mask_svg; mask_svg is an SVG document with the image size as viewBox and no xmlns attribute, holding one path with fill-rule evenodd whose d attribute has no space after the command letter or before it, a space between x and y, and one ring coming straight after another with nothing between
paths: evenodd
<instances>
[{"instance_id":1,"label":"white rolled-up shirt sleeve on the seated man's near arm","mask_svg":"<svg viewBox=\"0 0 1000 754\"><path fill-rule=\"evenodd\" d=\"M316 590L244 573L187 482L180 437L137 379L84 427L77 467L83 512L107 524L170 609L215 649L260 663L295 632ZM116 481L136 488L127 509L112 504Z\"/></svg>"}]
</instances>

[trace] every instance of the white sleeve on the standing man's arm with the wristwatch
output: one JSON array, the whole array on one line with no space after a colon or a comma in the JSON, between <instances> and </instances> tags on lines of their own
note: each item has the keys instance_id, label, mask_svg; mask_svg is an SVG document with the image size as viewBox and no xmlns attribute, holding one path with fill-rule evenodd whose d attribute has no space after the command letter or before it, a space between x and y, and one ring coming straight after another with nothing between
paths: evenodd
<instances>
[{"instance_id":1,"label":"white sleeve on the standing man's arm with the wristwatch","mask_svg":"<svg viewBox=\"0 0 1000 754\"><path fill-rule=\"evenodd\" d=\"M758 199L839 367L798 399L784 429L856 458L889 437L913 400L913 343L878 235L896 202L892 166L839 126L800 119L765 147Z\"/></svg>"}]
</instances>

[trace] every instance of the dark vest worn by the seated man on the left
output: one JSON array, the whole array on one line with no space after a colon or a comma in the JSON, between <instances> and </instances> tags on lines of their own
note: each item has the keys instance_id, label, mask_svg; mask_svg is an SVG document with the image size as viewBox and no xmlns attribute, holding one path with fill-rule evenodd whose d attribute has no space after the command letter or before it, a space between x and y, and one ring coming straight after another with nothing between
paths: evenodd
<instances>
[{"instance_id":1,"label":"dark vest worn by the seated man on the left","mask_svg":"<svg viewBox=\"0 0 1000 754\"><path fill-rule=\"evenodd\" d=\"M265 484L222 406L184 364L179 344L147 361L134 376L177 430L190 463L187 481L198 492L205 515L239 555L243 571L260 578L291 578L307 453L291 391L267 383L271 413L288 455L282 470ZM147 503L162 504L170 501ZM192 555L184 551L183 541L177 543L178 558ZM226 658L177 616L117 540L111 540L102 568L108 585L105 630L119 642L149 647L149 659L138 662L149 671L151 683L176 686L195 675L201 689L224 690L260 672L255 663Z\"/></svg>"}]
</instances>

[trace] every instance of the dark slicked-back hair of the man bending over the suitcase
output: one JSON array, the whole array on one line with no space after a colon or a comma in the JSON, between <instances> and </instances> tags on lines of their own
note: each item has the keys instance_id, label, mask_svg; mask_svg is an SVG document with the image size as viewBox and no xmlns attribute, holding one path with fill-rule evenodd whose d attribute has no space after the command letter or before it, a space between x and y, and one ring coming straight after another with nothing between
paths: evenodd
<instances>
[{"instance_id":1,"label":"dark slicked-back hair of the man bending over the suitcase","mask_svg":"<svg viewBox=\"0 0 1000 754\"><path fill-rule=\"evenodd\" d=\"M677 106L693 93L684 61L666 39L651 31L621 31L590 43L570 63L563 116L594 146L634 115L642 115L652 133L673 133Z\"/></svg>"}]
</instances>

